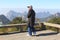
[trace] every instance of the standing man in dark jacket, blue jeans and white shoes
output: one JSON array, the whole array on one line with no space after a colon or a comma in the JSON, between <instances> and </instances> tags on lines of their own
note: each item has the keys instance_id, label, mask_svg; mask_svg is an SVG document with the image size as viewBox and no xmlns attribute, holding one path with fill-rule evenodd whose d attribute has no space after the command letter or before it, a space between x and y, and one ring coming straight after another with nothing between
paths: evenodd
<instances>
[{"instance_id":1,"label":"standing man in dark jacket, blue jeans and white shoes","mask_svg":"<svg viewBox=\"0 0 60 40\"><path fill-rule=\"evenodd\" d=\"M33 10L32 6L28 6L28 35L27 36L32 36L32 32L34 35L36 35L36 31L34 28L35 24L35 11Z\"/></svg>"}]
</instances>

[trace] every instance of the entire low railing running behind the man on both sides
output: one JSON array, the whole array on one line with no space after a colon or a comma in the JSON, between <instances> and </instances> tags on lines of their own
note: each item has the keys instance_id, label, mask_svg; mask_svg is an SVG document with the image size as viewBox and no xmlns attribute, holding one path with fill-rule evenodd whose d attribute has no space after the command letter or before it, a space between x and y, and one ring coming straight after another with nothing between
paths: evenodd
<instances>
[{"instance_id":1,"label":"entire low railing running behind the man on both sides","mask_svg":"<svg viewBox=\"0 0 60 40\"><path fill-rule=\"evenodd\" d=\"M35 24L35 26L37 26L37 27L39 26L38 27L39 30L40 30L40 27L42 27L41 28L42 30L44 30L46 26L54 27L54 28L57 28L57 33L59 33L59 29L60 29L60 25L53 24L53 23L46 23L46 22ZM24 27L25 27L25 30L24 30ZM23 31L26 31L26 29L27 29L27 23L0 25L0 28L5 28L5 30L3 30L3 33L23 32ZM16 28L19 31L10 32L10 28L13 28L13 29ZM0 34L2 34L2 32L0 32Z\"/></svg>"}]
</instances>

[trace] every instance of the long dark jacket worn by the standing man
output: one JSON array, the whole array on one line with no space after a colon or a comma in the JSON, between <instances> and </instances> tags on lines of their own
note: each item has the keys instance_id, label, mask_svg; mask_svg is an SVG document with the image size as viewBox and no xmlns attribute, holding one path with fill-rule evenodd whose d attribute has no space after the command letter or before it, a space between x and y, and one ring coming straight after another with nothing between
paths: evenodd
<instances>
[{"instance_id":1,"label":"long dark jacket worn by the standing man","mask_svg":"<svg viewBox=\"0 0 60 40\"><path fill-rule=\"evenodd\" d=\"M35 24L35 11L32 9L28 12L28 24L33 26Z\"/></svg>"}]
</instances>

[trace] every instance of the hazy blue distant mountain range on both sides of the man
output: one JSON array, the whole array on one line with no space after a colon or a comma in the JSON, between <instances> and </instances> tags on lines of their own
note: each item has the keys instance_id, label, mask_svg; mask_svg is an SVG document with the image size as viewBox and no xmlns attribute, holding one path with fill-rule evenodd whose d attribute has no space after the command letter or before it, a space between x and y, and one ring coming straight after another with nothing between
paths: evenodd
<instances>
[{"instance_id":1,"label":"hazy blue distant mountain range on both sides of the man","mask_svg":"<svg viewBox=\"0 0 60 40\"><path fill-rule=\"evenodd\" d=\"M36 18L46 18L48 16L50 16L52 14L50 14L50 12L38 12L36 13ZM8 13L7 13L7 18L9 20L13 20L15 17L22 17L24 16L25 18L27 17L27 12L23 12L23 13L19 13L19 12L16 12L16 11L12 11L10 10ZM42 20L42 19L41 19Z\"/></svg>"}]
</instances>

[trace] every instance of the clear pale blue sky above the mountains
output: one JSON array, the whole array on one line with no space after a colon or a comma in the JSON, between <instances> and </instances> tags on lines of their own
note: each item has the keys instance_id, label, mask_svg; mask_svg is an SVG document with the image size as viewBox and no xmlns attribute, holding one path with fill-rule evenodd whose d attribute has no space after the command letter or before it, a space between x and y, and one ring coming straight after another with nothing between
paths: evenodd
<instances>
[{"instance_id":1,"label":"clear pale blue sky above the mountains","mask_svg":"<svg viewBox=\"0 0 60 40\"><path fill-rule=\"evenodd\" d=\"M36 11L38 11L37 9L60 10L60 0L0 0L0 14L5 14L8 9L23 11L29 5L32 5Z\"/></svg>"}]
</instances>

